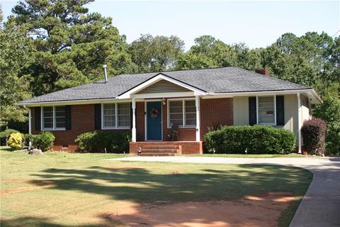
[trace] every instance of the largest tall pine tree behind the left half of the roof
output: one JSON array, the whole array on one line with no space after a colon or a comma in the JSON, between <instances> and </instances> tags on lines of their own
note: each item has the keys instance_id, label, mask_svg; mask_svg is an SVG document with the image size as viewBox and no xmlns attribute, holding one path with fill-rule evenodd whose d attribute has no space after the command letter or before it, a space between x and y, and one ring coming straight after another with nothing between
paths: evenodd
<instances>
[{"instance_id":1,"label":"largest tall pine tree behind the left half of the roof","mask_svg":"<svg viewBox=\"0 0 340 227\"><path fill-rule=\"evenodd\" d=\"M129 71L130 56L125 36L111 18L89 13L93 0L26 0L14 6L13 18L28 26L37 52L23 73L33 76L35 95L74 87L108 74Z\"/></svg>"}]
</instances>

